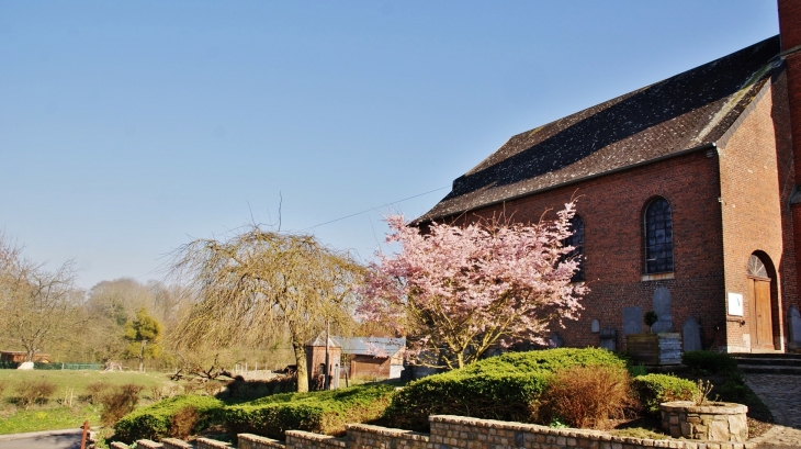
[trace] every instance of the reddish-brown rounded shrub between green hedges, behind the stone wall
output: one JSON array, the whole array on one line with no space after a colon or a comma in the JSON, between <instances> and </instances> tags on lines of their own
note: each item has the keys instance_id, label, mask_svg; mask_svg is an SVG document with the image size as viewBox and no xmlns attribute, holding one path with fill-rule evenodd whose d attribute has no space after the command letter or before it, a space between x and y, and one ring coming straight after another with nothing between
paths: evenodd
<instances>
[{"instance_id":1,"label":"reddish-brown rounded shrub between green hedges, behind the stone wall","mask_svg":"<svg viewBox=\"0 0 801 449\"><path fill-rule=\"evenodd\" d=\"M636 401L629 372L620 367L569 367L556 371L542 395L540 423L566 423L578 428L606 428Z\"/></svg>"}]
</instances>

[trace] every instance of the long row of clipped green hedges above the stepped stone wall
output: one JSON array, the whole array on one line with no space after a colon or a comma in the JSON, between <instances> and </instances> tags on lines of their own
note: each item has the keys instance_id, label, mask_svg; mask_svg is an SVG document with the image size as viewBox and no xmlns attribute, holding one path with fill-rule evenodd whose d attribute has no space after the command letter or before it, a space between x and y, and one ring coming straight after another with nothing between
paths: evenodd
<instances>
[{"instance_id":1,"label":"long row of clipped green hedges above the stepped stone wall","mask_svg":"<svg viewBox=\"0 0 801 449\"><path fill-rule=\"evenodd\" d=\"M341 435L345 424L365 422L426 431L428 416L443 413L530 422L554 372L572 367L624 369L625 360L603 349L560 348L493 357L420 379L397 392L392 384L366 384L273 394L227 406L212 397L182 396L125 416L115 426L115 438L159 440L168 436L171 420L181 420L179 415L191 416L187 407L194 407L200 416L195 431L216 424L224 425L232 435L252 433L277 439L283 439L287 429ZM643 396L662 397L664 391L673 391L658 382L652 385L650 379L641 382ZM182 409L184 413L179 414Z\"/></svg>"}]
</instances>

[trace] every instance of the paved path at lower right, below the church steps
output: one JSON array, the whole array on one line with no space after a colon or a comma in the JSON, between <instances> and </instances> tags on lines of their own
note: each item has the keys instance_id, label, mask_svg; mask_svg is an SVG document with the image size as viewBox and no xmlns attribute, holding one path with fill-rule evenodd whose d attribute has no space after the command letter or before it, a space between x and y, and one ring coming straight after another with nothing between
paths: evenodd
<instances>
[{"instance_id":1,"label":"paved path at lower right, below the church steps","mask_svg":"<svg viewBox=\"0 0 801 449\"><path fill-rule=\"evenodd\" d=\"M759 448L801 448L801 375L745 374L745 381L777 424L757 438Z\"/></svg>"}]
</instances>

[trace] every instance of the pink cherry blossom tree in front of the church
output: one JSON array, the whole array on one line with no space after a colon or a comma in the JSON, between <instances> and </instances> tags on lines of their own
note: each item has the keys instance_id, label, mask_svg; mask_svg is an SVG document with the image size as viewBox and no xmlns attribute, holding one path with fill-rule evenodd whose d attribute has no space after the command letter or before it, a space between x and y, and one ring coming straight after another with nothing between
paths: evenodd
<instances>
[{"instance_id":1,"label":"pink cherry blossom tree in front of the church","mask_svg":"<svg viewBox=\"0 0 801 449\"><path fill-rule=\"evenodd\" d=\"M551 324L578 317L587 292L571 282L578 260L564 245L574 213L571 202L553 221L495 217L427 232L391 215L386 240L400 250L376 254L358 312L394 326L416 361L433 367L462 368L494 345L542 343Z\"/></svg>"}]
</instances>

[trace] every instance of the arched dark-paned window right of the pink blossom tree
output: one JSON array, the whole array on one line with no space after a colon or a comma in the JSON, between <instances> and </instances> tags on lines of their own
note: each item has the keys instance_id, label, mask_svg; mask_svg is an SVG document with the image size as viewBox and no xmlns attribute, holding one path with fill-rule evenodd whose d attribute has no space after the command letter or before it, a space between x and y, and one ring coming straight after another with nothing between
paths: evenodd
<instances>
[{"instance_id":1,"label":"arched dark-paned window right of the pink blossom tree","mask_svg":"<svg viewBox=\"0 0 801 449\"><path fill-rule=\"evenodd\" d=\"M645 272L673 271L673 217L670 204L657 198L645 210Z\"/></svg>"}]
</instances>

